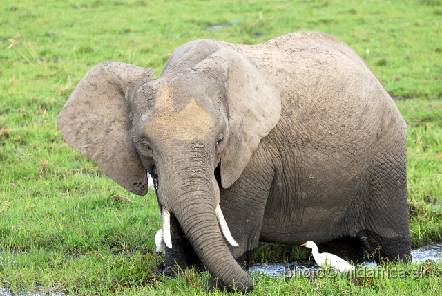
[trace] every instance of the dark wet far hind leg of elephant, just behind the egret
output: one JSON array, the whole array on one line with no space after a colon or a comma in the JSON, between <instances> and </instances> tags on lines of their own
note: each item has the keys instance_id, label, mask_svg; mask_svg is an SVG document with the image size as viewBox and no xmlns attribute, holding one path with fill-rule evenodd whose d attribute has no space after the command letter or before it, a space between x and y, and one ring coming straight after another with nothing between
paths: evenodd
<instances>
[{"instance_id":1,"label":"dark wet far hind leg of elephant, just behind the egret","mask_svg":"<svg viewBox=\"0 0 442 296\"><path fill-rule=\"evenodd\" d=\"M318 243L319 252L329 252L352 263L363 263L365 259L365 248L360 239L356 237L340 237Z\"/></svg>"}]
</instances>

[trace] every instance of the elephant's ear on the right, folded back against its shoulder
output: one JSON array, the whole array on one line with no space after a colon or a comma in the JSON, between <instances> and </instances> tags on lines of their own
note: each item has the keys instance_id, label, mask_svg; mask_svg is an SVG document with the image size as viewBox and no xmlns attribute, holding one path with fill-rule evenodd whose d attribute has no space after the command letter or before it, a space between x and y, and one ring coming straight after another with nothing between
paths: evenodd
<instances>
[{"instance_id":1,"label":"elephant's ear on the right, folded back against its shoulder","mask_svg":"<svg viewBox=\"0 0 442 296\"><path fill-rule=\"evenodd\" d=\"M278 89L236 51L221 49L195 65L226 84L230 135L220 159L221 185L230 187L249 163L261 138L279 122Z\"/></svg>"}]
</instances>

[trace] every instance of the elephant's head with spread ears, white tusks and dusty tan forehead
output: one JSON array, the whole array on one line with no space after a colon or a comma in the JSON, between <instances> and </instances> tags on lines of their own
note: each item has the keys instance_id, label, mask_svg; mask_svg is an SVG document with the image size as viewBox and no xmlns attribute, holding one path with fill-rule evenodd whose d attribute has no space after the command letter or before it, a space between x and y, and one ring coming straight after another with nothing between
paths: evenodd
<instances>
[{"instance_id":1,"label":"elephant's head with spread ears, white tusks and dusty tan forehead","mask_svg":"<svg viewBox=\"0 0 442 296\"><path fill-rule=\"evenodd\" d=\"M59 129L69 145L130 192L146 194L146 172L154 176L166 245L173 248L171 213L211 275L251 289L251 277L220 231L235 244L222 223L220 186L240 177L278 123L280 93L247 59L215 41L180 46L152 80L154 72L119 62L95 66L59 113Z\"/></svg>"}]
</instances>

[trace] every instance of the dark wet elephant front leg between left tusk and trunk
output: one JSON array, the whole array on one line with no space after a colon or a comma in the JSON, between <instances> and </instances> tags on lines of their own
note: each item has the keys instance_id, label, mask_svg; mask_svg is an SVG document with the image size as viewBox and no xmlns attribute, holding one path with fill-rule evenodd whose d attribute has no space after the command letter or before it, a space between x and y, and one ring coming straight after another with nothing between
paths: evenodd
<instances>
[{"instance_id":1,"label":"dark wet elephant front leg between left tusk and trunk","mask_svg":"<svg viewBox=\"0 0 442 296\"><path fill-rule=\"evenodd\" d=\"M198 255L173 214L171 214L171 240L172 248L166 246L166 266L163 270L165 275L174 276L191 267L199 270L203 268Z\"/></svg>"}]
</instances>

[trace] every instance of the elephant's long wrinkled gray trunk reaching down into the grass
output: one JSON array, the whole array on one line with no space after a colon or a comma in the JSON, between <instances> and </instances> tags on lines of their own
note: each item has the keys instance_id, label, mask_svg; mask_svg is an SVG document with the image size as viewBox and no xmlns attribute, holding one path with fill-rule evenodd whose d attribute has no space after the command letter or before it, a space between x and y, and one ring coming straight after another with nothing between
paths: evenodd
<instances>
[{"instance_id":1,"label":"elephant's long wrinkled gray trunk reaching down into the grass","mask_svg":"<svg viewBox=\"0 0 442 296\"><path fill-rule=\"evenodd\" d=\"M160 202L175 215L196 254L211 275L218 278L220 286L252 290L253 280L233 259L218 225L216 208L219 207L220 196L213 173L189 176L187 172L189 169L169 174L166 182L162 182L164 179L159 176L162 180Z\"/></svg>"}]
</instances>

